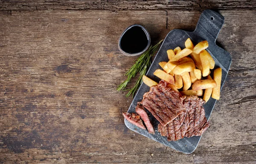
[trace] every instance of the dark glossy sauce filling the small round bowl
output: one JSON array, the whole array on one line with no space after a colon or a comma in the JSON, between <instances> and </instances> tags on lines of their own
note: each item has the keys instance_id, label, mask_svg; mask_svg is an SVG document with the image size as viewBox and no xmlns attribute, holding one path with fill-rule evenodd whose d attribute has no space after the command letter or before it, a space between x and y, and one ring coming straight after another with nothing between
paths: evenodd
<instances>
[{"instance_id":1,"label":"dark glossy sauce filling the small round bowl","mask_svg":"<svg viewBox=\"0 0 256 164\"><path fill-rule=\"evenodd\" d=\"M120 41L120 47L123 51L135 54L140 51L143 51L148 45L148 37L145 31L139 27L134 26L125 31L125 34L123 34L121 41Z\"/></svg>"}]
</instances>

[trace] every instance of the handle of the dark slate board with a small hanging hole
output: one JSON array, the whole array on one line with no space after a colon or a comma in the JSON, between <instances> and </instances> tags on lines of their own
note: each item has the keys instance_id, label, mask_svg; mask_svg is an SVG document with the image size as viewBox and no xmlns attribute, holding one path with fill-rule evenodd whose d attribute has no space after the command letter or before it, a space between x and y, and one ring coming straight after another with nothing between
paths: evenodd
<instances>
[{"instance_id":1,"label":"handle of the dark slate board with a small hanging hole","mask_svg":"<svg viewBox=\"0 0 256 164\"><path fill-rule=\"evenodd\" d=\"M214 42L224 24L224 17L212 10L204 10L198 20L195 33L202 38L212 37Z\"/></svg>"}]
</instances>

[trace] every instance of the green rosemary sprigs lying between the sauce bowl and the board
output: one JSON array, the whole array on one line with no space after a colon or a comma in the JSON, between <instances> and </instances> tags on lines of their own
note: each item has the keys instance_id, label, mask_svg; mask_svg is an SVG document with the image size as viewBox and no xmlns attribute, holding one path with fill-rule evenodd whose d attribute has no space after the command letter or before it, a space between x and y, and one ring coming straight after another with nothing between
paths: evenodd
<instances>
[{"instance_id":1,"label":"green rosemary sprigs lying between the sauce bowl and the board","mask_svg":"<svg viewBox=\"0 0 256 164\"><path fill-rule=\"evenodd\" d=\"M132 97L134 97L134 94L136 90L139 88L141 82L142 82L142 76L145 75L148 68L151 65L151 57L154 55L155 51L157 51L158 46L160 45L160 42L158 42L153 47L150 46L147 51L145 51L140 57L136 59L135 64L125 73L125 76L127 76L127 79L122 82L118 87L117 90L124 90L128 82L130 82L131 78L134 78L138 72L140 72L140 76L137 79L135 85L133 88L128 89L129 92L126 94L126 97L130 96L132 94Z\"/></svg>"}]
</instances>

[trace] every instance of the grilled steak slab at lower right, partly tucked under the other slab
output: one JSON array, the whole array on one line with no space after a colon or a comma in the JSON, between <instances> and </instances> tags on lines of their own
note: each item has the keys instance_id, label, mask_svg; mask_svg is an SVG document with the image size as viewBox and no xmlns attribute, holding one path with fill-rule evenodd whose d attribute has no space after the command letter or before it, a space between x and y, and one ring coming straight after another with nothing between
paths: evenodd
<instances>
[{"instance_id":1,"label":"grilled steak slab at lower right, partly tucked under the other slab","mask_svg":"<svg viewBox=\"0 0 256 164\"><path fill-rule=\"evenodd\" d=\"M183 96L185 110L165 127L158 124L161 136L167 136L168 141L177 141L183 137L201 136L209 127L204 116L204 100L197 96Z\"/></svg>"}]
</instances>

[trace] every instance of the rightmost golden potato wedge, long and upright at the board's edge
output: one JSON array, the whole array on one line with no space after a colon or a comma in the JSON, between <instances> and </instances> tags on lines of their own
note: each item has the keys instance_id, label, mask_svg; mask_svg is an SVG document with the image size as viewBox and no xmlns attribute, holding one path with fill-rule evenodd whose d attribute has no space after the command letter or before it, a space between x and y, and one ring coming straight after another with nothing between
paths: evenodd
<instances>
[{"instance_id":1,"label":"rightmost golden potato wedge, long and upright at the board's edge","mask_svg":"<svg viewBox=\"0 0 256 164\"><path fill-rule=\"evenodd\" d=\"M216 81L217 86L213 88L212 90L212 98L213 99L220 99L220 93L221 93L221 76L222 76L222 70L221 68L217 68L213 72L213 79Z\"/></svg>"}]
</instances>

